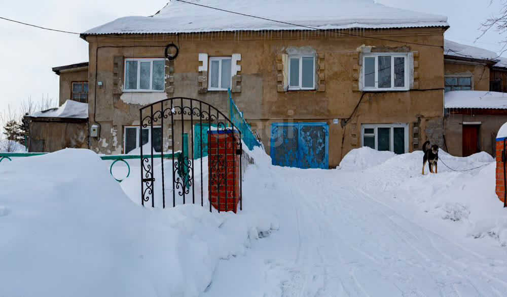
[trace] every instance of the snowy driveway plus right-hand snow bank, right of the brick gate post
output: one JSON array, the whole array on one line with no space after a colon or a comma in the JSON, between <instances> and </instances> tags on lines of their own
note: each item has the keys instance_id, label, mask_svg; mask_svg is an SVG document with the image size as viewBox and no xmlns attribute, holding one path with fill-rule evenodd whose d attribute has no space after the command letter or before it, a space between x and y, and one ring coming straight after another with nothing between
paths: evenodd
<instances>
[{"instance_id":1,"label":"snowy driveway plus right-hand snow bank, right of the brick gate post","mask_svg":"<svg viewBox=\"0 0 507 297\"><path fill-rule=\"evenodd\" d=\"M441 158L458 169L492 161ZM422 152L368 148L343 163L330 171L259 165L259 184L244 191L273 197L280 229L220 262L203 295L505 295L507 211L494 193L494 163L422 176Z\"/></svg>"}]
</instances>

